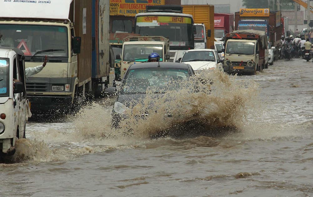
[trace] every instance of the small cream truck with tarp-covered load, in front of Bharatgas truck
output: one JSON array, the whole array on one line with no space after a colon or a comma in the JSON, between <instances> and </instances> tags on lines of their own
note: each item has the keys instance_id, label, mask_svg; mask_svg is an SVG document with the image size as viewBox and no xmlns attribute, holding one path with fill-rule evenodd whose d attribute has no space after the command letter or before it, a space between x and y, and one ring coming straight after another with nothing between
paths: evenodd
<instances>
[{"instance_id":1,"label":"small cream truck with tarp-covered load, in front of Bharatgas truck","mask_svg":"<svg viewBox=\"0 0 313 197\"><path fill-rule=\"evenodd\" d=\"M234 31L226 34L223 62L227 73L256 74L268 62L268 41L264 31Z\"/></svg>"}]
</instances>

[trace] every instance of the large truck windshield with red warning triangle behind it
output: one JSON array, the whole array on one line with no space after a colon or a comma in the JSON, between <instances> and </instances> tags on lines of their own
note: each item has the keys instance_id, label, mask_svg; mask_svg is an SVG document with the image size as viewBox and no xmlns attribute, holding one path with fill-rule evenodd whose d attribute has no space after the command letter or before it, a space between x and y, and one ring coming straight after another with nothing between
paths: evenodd
<instances>
[{"instance_id":1,"label":"large truck windshield with red warning triangle behind it","mask_svg":"<svg viewBox=\"0 0 313 197\"><path fill-rule=\"evenodd\" d=\"M0 25L3 35L1 46L16 47L25 56L32 56L38 51L60 49L40 53L36 56L68 57L68 33L63 26L47 25Z\"/></svg>"}]
</instances>

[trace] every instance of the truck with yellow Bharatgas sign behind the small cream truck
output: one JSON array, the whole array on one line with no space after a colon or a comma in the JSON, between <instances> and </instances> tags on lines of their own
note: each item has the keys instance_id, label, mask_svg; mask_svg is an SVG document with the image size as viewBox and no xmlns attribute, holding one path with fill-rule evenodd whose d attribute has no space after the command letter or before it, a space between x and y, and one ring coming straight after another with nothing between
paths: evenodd
<instances>
[{"instance_id":1,"label":"truck with yellow Bharatgas sign behind the small cream truck","mask_svg":"<svg viewBox=\"0 0 313 197\"><path fill-rule=\"evenodd\" d=\"M270 12L269 8L240 9L235 13L235 30L260 30L266 32L272 45L280 43L283 26L280 11Z\"/></svg>"}]
</instances>

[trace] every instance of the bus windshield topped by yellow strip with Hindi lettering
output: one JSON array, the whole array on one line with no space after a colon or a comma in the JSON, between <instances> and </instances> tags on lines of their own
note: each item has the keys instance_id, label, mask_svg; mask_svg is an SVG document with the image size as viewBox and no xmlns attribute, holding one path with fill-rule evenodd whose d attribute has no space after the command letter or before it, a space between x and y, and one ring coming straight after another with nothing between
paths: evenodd
<instances>
[{"instance_id":1,"label":"bus windshield topped by yellow strip with Hindi lettering","mask_svg":"<svg viewBox=\"0 0 313 197\"><path fill-rule=\"evenodd\" d=\"M194 48L192 18L189 17L139 16L136 17L136 33L169 38L173 50Z\"/></svg>"}]
</instances>

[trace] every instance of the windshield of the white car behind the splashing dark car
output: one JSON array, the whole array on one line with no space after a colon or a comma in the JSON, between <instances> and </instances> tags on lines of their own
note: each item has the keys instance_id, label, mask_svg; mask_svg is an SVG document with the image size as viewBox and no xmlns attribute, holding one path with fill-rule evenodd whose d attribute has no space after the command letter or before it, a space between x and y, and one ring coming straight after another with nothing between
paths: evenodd
<instances>
[{"instance_id":1,"label":"windshield of the white car behind the splashing dark car","mask_svg":"<svg viewBox=\"0 0 313 197\"><path fill-rule=\"evenodd\" d=\"M182 56L181 62L193 62L193 61L214 61L216 58L213 51L186 51Z\"/></svg>"}]
</instances>

